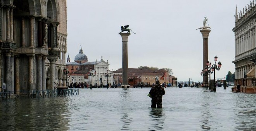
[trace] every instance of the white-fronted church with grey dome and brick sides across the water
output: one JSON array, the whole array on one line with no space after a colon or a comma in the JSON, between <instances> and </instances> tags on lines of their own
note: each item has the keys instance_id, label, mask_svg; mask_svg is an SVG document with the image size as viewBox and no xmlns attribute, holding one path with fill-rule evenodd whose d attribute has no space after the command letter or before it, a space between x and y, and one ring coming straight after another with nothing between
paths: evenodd
<instances>
[{"instance_id":1,"label":"white-fronted church with grey dome and brick sides across the water","mask_svg":"<svg viewBox=\"0 0 256 131\"><path fill-rule=\"evenodd\" d=\"M109 70L109 63L103 60L101 56L100 61L91 61L88 62L88 57L83 54L83 49L79 50L79 53L74 57L74 62L70 62L70 57L67 57L66 63L67 71L67 83L70 84L78 84L78 83L88 83L92 86L107 85L107 83L111 84L113 81L112 71ZM90 72L92 76L88 75L87 72ZM89 73L89 74L90 74ZM106 76L108 73L108 76ZM92 79L91 79L92 78ZM92 81L92 83L91 83Z\"/></svg>"}]
</instances>

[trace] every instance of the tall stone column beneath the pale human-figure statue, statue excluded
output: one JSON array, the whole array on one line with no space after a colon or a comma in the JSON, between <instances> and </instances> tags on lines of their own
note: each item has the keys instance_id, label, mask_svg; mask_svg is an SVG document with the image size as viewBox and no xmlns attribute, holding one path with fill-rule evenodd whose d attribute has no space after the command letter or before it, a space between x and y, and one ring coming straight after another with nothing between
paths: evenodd
<instances>
[{"instance_id":1,"label":"tall stone column beneath the pale human-figure statue, statue excluded","mask_svg":"<svg viewBox=\"0 0 256 131\"><path fill-rule=\"evenodd\" d=\"M211 32L210 29L202 29L200 30L200 32L202 33L202 37L203 37L203 67L202 70L204 70L204 68L206 67L206 61L208 61L208 37L209 37L209 33ZM203 77L203 82L207 83L206 81L208 81L208 75Z\"/></svg>"}]
</instances>

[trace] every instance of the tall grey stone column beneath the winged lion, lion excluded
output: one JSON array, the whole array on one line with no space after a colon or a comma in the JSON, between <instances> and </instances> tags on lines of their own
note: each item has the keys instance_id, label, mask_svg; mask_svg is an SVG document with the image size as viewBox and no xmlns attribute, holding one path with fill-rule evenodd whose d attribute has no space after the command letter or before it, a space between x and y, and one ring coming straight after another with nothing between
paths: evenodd
<instances>
[{"instance_id":1,"label":"tall grey stone column beneath the winged lion, lion excluded","mask_svg":"<svg viewBox=\"0 0 256 131\"><path fill-rule=\"evenodd\" d=\"M128 37L131 35L130 33L119 33L122 37L122 43L123 43L123 61L122 61L122 67L123 67L123 85L124 88L129 88L128 84Z\"/></svg>"}]
</instances>

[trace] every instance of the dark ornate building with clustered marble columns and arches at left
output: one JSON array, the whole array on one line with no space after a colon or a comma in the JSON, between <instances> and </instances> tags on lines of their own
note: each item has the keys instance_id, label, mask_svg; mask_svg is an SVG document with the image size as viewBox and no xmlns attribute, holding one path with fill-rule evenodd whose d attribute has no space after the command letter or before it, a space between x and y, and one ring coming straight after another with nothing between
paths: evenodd
<instances>
[{"instance_id":1,"label":"dark ornate building with clustered marble columns and arches at left","mask_svg":"<svg viewBox=\"0 0 256 131\"><path fill-rule=\"evenodd\" d=\"M61 86L66 37L66 0L0 0L0 87L19 93Z\"/></svg>"}]
</instances>

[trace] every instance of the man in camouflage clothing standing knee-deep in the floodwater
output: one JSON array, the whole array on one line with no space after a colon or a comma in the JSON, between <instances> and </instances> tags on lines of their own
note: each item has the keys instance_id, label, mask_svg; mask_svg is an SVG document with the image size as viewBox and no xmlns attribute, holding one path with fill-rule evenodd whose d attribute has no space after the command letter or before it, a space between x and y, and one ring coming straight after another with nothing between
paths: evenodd
<instances>
[{"instance_id":1,"label":"man in camouflage clothing standing knee-deep in the floodwater","mask_svg":"<svg viewBox=\"0 0 256 131\"><path fill-rule=\"evenodd\" d=\"M156 86L152 87L149 91L151 100L151 108L162 108L162 97L165 94L164 88L161 87L159 81L156 81Z\"/></svg>"}]
</instances>

